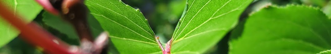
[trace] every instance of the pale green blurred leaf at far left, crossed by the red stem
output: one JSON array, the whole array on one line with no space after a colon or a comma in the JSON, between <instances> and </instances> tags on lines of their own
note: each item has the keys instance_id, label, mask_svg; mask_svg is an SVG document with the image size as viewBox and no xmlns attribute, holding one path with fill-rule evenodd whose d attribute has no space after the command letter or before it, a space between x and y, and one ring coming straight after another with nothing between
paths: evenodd
<instances>
[{"instance_id":1,"label":"pale green blurred leaf at far left, crossed by the red stem","mask_svg":"<svg viewBox=\"0 0 331 54\"><path fill-rule=\"evenodd\" d=\"M23 20L30 22L42 10L42 7L34 0L1 0L13 10L15 15L21 16ZM0 17L0 47L13 40L19 32Z\"/></svg>"}]
</instances>

